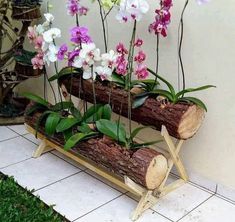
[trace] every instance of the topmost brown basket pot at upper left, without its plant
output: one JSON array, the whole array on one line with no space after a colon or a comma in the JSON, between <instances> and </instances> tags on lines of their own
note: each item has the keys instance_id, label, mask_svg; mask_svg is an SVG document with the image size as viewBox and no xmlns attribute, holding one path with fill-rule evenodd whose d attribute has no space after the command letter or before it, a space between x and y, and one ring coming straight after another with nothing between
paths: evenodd
<instances>
[{"instance_id":1,"label":"topmost brown basket pot at upper left, without its plant","mask_svg":"<svg viewBox=\"0 0 235 222\"><path fill-rule=\"evenodd\" d=\"M40 6L12 6L12 18L15 20L32 21L41 18Z\"/></svg>"}]
</instances>

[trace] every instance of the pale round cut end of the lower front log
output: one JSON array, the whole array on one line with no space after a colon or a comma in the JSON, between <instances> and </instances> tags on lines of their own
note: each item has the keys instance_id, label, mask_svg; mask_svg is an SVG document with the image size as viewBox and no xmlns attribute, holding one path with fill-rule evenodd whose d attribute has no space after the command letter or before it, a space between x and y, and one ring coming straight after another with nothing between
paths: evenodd
<instances>
[{"instance_id":1,"label":"pale round cut end of the lower front log","mask_svg":"<svg viewBox=\"0 0 235 222\"><path fill-rule=\"evenodd\" d=\"M167 173L167 159L158 155L152 159L146 173L146 187L154 190L159 187Z\"/></svg>"}]
</instances>

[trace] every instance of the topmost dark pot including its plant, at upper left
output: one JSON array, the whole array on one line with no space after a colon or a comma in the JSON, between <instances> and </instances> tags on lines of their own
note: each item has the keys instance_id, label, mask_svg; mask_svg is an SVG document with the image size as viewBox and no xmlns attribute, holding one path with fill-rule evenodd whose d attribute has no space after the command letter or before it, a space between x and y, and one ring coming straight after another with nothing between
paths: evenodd
<instances>
[{"instance_id":1,"label":"topmost dark pot including its plant, at upper left","mask_svg":"<svg viewBox=\"0 0 235 222\"><path fill-rule=\"evenodd\" d=\"M12 18L24 21L39 19L41 2L41 0L11 0Z\"/></svg>"}]
</instances>

